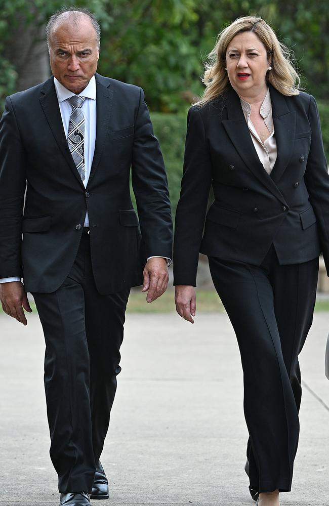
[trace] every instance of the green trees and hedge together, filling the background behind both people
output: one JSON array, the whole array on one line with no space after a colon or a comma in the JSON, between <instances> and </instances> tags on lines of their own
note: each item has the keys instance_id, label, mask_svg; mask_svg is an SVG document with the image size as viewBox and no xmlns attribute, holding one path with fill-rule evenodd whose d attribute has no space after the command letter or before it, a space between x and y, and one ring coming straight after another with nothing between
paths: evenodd
<instances>
[{"instance_id":1,"label":"green trees and hedge together, filling the background behind both people","mask_svg":"<svg viewBox=\"0 0 329 506\"><path fill-rule=\"evenodd\" d=\"M50 75L45 23L58 0L0 0L0 104ZM86 0L101 28L98 71L145 91L165 157L173 210L179 196L186 112L202 93L203 62L217 34L239 16L262 16L295 53L302 86L315 96L329 154L327 0Z\"/></svg>"}]
</instances>

